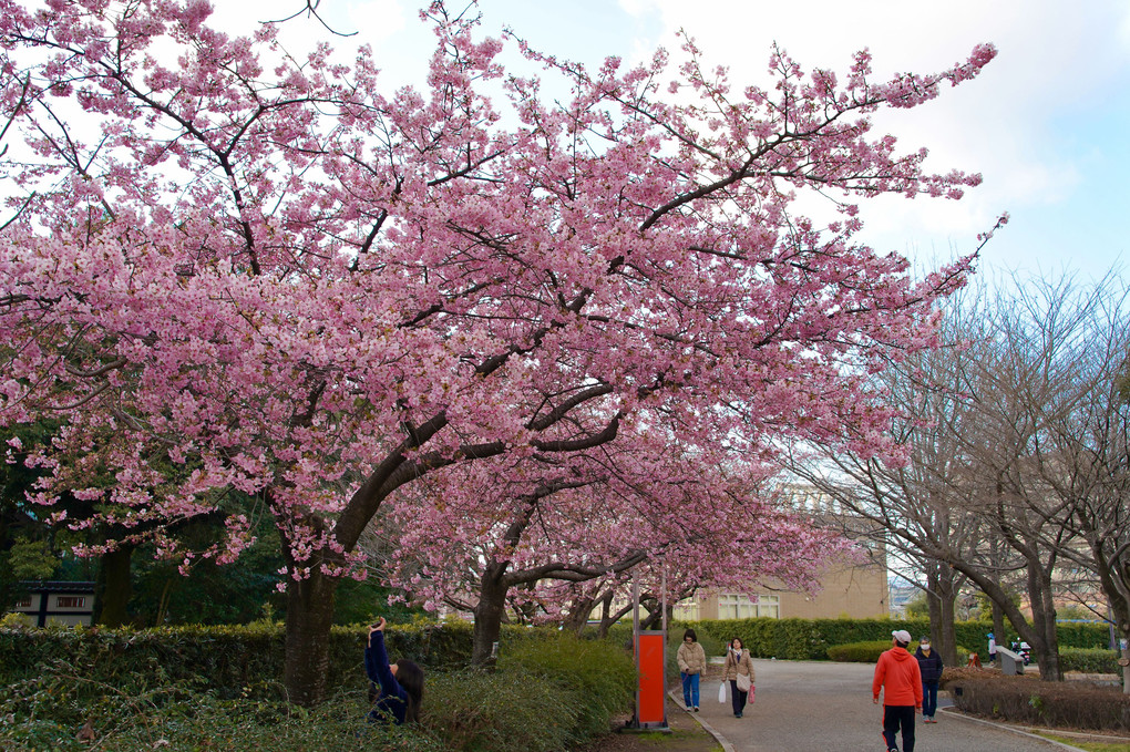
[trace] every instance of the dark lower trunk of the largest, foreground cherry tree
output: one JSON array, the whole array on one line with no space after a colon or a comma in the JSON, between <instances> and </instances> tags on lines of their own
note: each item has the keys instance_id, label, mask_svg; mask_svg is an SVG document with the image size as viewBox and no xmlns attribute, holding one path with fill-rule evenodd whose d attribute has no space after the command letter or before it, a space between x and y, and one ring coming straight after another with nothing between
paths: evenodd
<instances>
[{"instance_id":1,"label":"dark lower trunk of the largest, foreground cherry tree","mask_svg":"<svg viewBox=\"0 0 1130 752\"><path fill-rule=\"evenodd\" d=\"M337 588L338 578L319 567L305 579L287 580L284 682L290 701L307 708L325 699Z\"/></svg>"}]
</instances>

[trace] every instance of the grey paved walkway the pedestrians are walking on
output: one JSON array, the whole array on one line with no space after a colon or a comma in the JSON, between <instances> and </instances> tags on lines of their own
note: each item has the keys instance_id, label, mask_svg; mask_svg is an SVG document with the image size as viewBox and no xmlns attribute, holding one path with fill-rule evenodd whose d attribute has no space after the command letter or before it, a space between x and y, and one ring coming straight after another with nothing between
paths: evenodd
<instances>
[{"instance_id":1,"label":"grey paved walkway the pedestrians are walking on","mask_svg":"<svg viewBox=\"0 0 1130 752\"><path fill-rule=\"evenodd\" d=\"M733 752L854 752L883 750L883 708L871 703L873 667L858 663L754 661L754 705L734 718L716 679L702 687L698 718ZM679 698L681 688L672 694ZM949 705L939 697L939 706ZM916 717L915 752L1053 752L1075 749L944 710L937 724ZM902 743L899 742L899 749Z\"/></svg>"}]
</instances>

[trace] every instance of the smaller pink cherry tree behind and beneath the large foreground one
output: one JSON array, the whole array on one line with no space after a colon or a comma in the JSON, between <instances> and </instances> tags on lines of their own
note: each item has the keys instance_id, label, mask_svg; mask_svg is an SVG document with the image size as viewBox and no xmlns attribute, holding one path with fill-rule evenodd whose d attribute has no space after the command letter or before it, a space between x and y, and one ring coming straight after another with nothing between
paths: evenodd
<instances>
[{"instance_id":1,"label":"smaller pink cherry tree behind and beneath the large foreground one","mask_svg":"<svg viewBox=\"0 0 1130 752\"><path fill-rule=\"evenodd\" d=\"M811 588L851 548L786 510L768 488L774 469L723 471L718 453L633 428L564 462L507 456L436 473L398 508L393 582L472 613L472 662L485 664L507 605L562 623L576 584L623 595L625 575L651 593L664 578L672 593L753 593L770 579Z\"/></svg>"}]
</instances>

